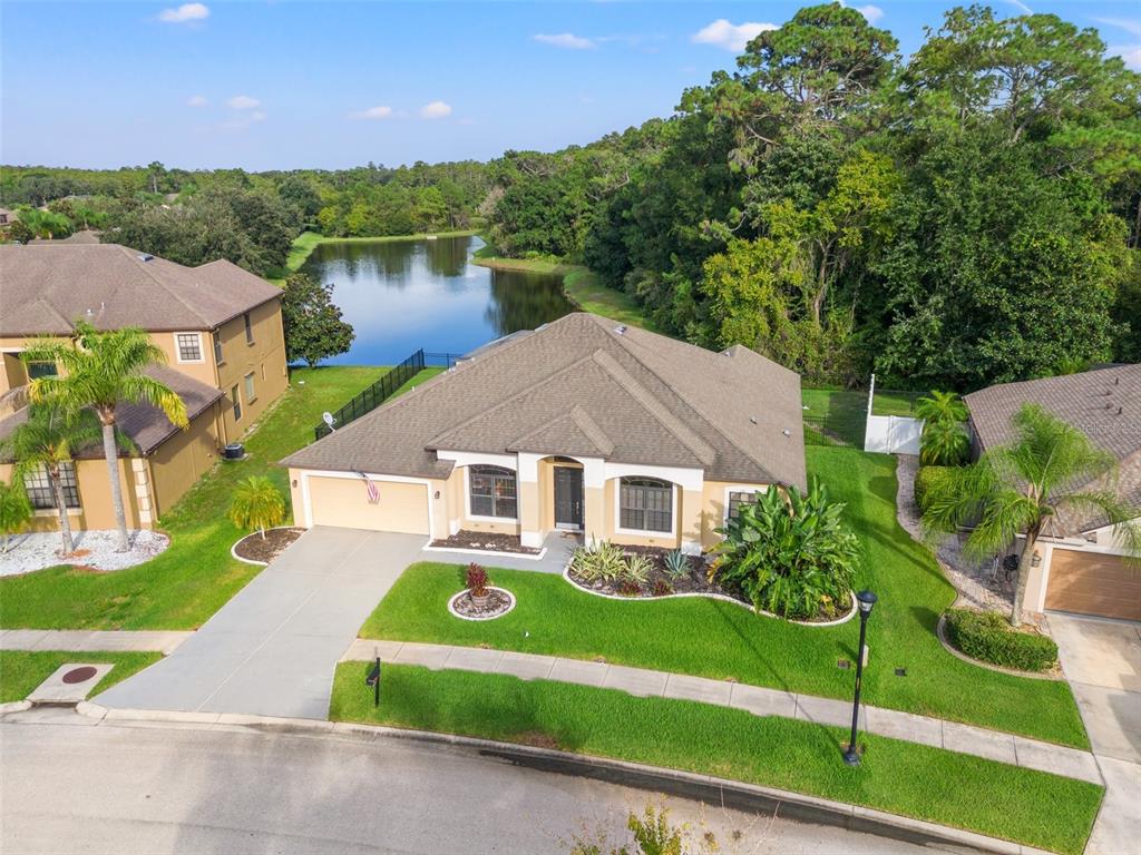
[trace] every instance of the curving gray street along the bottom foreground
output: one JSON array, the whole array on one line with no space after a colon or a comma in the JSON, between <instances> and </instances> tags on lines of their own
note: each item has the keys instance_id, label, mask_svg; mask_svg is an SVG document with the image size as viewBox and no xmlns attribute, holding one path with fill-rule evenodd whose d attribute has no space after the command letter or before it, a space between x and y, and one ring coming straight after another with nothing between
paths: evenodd
<instances>
[{"instance_id":1,"label":"curving gray street along the bottom foreground","mask_svg":"<svg viewBox=\"0 0 1141 855\"><path fill-rule=\"evenodd\" d=\"M468 748L355 735L92 724L43 710L0 725L0 852L567 853L624 839L665 804L720 852L911 855L909 844L513 766ZM9 717L8 722L11 722Z\"/></svg>"}]
</instances>

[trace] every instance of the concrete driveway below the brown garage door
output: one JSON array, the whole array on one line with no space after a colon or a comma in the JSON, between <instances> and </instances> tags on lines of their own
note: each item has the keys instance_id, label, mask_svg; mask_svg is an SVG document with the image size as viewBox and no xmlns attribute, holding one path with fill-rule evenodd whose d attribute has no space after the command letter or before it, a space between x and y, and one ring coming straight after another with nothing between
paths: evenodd
<instances>
[{"instance_id":1,"label":"concrete driveway below the brown garage door","mask_svg":"<svg viewBox=\"0 0 1141 855\"><path fill-rule=\"evenodd\" d=\"M1141 624L1060 612L1047 619L1106 779L1085 855L1141 853Z\"/></svg>"}]
</instances>

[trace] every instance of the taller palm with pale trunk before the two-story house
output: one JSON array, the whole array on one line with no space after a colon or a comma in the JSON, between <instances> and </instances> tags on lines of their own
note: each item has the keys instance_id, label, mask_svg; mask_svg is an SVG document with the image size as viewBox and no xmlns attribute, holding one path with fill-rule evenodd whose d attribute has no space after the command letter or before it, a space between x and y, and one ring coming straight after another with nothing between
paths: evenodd
<instances>
[{"instance_id":1,"label":"taller palm with pale trunk before the two-story house","mask_svg":"<svg viewBox=\"0 0 1141 855\"><path fill-rule=\"evenodd\" d=\"M41 340L24 351L27 361L56 363L59 376L33 380L29 386L32 401L50 404L64 412L88 408L103 426L103 453L107 458L111 500L119 526L120 552L130 548L127 539L127 513L119 480L115 449L115 410L120 402L146 402L159 407L175 425L187 427L186 405L165 383L147 376L143 369L161 365L165 355L136 327L100 332L84 320L75 324L70 342Z\"/></svg>"}]
</instances>

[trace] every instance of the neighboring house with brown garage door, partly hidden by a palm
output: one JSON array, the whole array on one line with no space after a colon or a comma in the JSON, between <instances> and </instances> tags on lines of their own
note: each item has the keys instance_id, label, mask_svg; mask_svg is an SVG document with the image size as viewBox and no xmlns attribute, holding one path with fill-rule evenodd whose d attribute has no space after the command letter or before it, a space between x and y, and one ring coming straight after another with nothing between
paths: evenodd
<instances>
[{"instance_id":1,"label":"neighboring house with brown garage door, partly hidden by a palm","mask_svg":"<svg viewBox=\"0 0 1141 855\"><path fill-rule=\"evenodd\" d=\"M1141 507L1141 365L1006 383L963 400L978 451L1013 439L1011 417L1023 404L1042 405L1117 458L1117 477L1102 486ZM1141 524L1141 518L1136 522ZM1037 553L1026 591L1030 611L1141 620L1141 567L1126 561L1115 527L1099 513L1055 518L1038 540Z\"/></svg>"}]
</instances>

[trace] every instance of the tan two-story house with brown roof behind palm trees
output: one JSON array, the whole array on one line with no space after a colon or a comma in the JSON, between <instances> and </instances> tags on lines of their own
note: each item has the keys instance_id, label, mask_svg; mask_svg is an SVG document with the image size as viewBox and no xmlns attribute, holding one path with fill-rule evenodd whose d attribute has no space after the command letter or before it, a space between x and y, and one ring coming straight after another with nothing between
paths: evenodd
<instances>
[{"instance_id":1,"label":"tan two-story house with brown roof behind palm trees","mask_svg":"<svg viewBox=\"0 0 1141 855\"><path fill-rule=\"evenodd\" d=\"M151 370L187 405L191 426L177 430L156 408L122 405L121 427L137 451L120 458L128 524L151 528L289 385L281 290L228 261L196 268L116 244L0 246L0 394L55 365L25 365L30 341L67 337L74 321L100 329L137 326L167 355ZM24 420L0 414L0 437ZM11 473L0 462L0 479ZM78 528L114 527L102 449L84 449L67 467L67 499ZM35 529L58 526L43 478L26 487Z\"/></svg>"}]
</instances>

